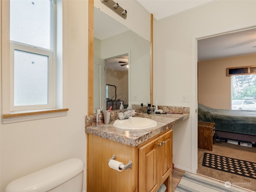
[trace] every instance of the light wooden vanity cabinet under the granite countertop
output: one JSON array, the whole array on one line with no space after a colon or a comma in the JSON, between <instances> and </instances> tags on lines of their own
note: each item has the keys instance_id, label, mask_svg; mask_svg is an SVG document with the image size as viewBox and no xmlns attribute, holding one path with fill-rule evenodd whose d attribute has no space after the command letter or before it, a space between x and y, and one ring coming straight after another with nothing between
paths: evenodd
<instances>
[{"instance_id":1,"label":"light wooden vanity cabinet under the granite countertop","mask_svg":"<svg viewBox=\"0 0 256 192\"><path fill-rule=\"evenodd\" d=\"M88 136L87 191L157 192L165 183L171 192L172 130L133 147L92 134ZM132 168L118 172L108 166L113 155Z\"/></svg>"}]
</instances>

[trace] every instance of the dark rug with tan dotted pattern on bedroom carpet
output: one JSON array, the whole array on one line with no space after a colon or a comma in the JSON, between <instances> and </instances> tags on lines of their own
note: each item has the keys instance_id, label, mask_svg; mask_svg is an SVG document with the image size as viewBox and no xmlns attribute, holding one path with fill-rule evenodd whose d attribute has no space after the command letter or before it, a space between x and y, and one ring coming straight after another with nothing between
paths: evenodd
<instances>
[{"instance_id":1,"label":"dark rug with tan dotted pattern on bedroom carpet","mask_svg":"<svg viewBox=\"0 0 256 192\"><path fill-rule=\"evenodd\" d=\"M203 166L256 179L256 163L204 153Z\"/></svg>"}]
</instances>

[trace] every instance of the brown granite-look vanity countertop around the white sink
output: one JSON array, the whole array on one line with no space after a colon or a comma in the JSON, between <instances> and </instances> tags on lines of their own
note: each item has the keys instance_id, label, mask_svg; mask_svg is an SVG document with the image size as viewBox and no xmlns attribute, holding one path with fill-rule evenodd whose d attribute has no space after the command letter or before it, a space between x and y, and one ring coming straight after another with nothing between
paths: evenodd
<instances>
[{"instance_id":1,"label":"brown granite-look vanity countertop around the white sink","mask_svg":"<svg viewBox=\"0 0 256 192\"><path fill-rule=\"evenodd\" d=\"M88 126L85 128L85 132L136 147L161 132L164 132L175 124L188 119L189 114L150 114L148 116L136 114L134 117L150 118L157 122L157 126L143 130L123 130L114 127L114 121L112 121L107 125L102 124L100 126Z\"/></svg>"}]
</instances>

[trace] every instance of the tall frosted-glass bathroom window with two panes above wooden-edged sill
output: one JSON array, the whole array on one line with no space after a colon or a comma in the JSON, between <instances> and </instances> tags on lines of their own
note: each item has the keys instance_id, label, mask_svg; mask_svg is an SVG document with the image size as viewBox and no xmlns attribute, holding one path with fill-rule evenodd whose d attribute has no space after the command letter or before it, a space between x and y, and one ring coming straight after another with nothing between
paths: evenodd
<instances>
[{"instance_id":1,"label":"tall frosted-glass bathroom window with two panes above wooden-edged sill","mask_svg":"<svg viewBox=\"0 0 256 192\"><path fill-rule=\"evenodd\" d=\"M53 108L52 0L10 0L11 111Z\"/></svg>"}]
</instances>

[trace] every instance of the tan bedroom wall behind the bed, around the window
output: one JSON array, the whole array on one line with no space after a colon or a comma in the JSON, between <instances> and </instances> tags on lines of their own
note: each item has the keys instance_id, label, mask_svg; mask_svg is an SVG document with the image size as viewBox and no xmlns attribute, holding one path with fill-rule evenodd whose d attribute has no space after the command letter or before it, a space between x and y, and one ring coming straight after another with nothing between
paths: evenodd
<instances>
[{"instance_id":1,"label":"tan bedroom wall behind the bed, around the window","mask_svg":"<svg viewBox=\"0 0 256 192\"><path fill-rule=\"evenodd\" d=\"M255 65L256 54L198 62L198 103L231 108L231 77L226 68Z\"/></svg>"}]
</instances>

